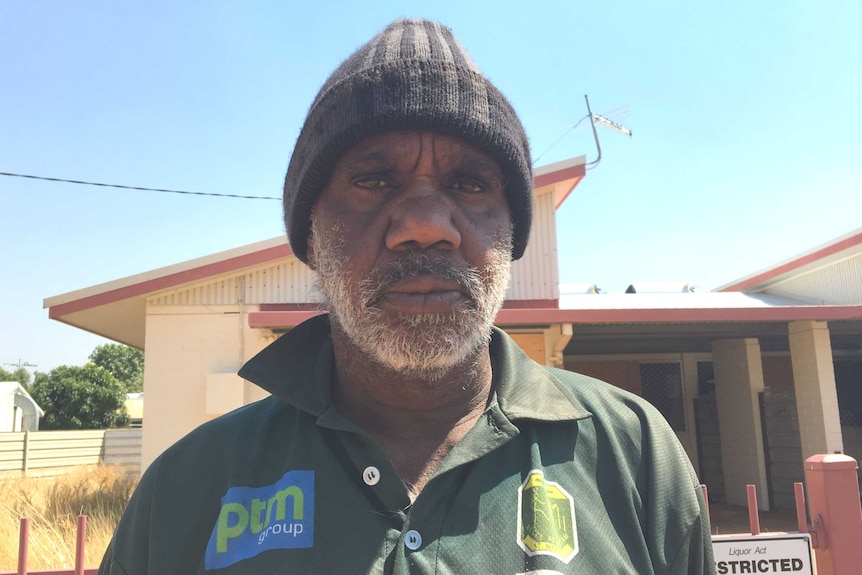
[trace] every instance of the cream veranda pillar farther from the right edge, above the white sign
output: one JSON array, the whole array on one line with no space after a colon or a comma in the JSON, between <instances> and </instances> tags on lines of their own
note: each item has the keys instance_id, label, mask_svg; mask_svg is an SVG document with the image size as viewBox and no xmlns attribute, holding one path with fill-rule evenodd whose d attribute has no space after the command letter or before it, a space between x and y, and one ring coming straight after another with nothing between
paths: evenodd
<instances>
[{"instance_id":1,"label":"cream veranda pillar farther from the right edge, above the white sign","mask_svg":"<svg viewBox=\"0 0 862 575\"><path fill-rule=\"evenodd\" d=\"M766 459L758 393L763 391L760 342L756 338L712 342L715 398L727 502L746 506L745 486L757 486L761 509L769 508Z\"/></svg>"}]
</instances>

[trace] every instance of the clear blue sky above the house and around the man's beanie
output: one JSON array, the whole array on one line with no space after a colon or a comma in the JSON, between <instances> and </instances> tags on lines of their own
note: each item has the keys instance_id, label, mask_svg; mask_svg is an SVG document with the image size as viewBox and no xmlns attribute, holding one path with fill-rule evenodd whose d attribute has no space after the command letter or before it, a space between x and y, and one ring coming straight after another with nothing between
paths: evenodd
<instances>
[{"instance_id":1,"label":"clear blue sky above the house and around the man's beanie","mask_svg":"<svg viewBox=\"0 0 862 575\"><path fill-rule=\"evenodd\" d=\"M0 172L278 196L320 84L399 16L454 29L540 165L595 157L584 94L634 131L558 212L565 283L706 290L862 226L857 0L4 0ZM43 298L283 233L275 201L8 177L0 215L0 364L40 371L105 341Z\"/></svg>"}]
</instances>

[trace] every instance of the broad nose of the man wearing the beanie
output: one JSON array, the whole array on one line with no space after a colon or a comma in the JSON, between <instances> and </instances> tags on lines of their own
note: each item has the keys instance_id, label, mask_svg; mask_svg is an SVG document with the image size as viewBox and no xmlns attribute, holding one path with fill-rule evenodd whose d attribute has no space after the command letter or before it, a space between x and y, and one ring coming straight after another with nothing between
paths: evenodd
<instances>
[{"instance_id":1,"label":"broad nose of the man wearing the beanie","mask_svg":"<svg viewBox=\"0 0 862 575\"><path fill-rule=\"evenodd\" d=\"M461 233L453 220L456 209L436 182L411 183L392 206L386 247L393 251L458 249Z\"/></svg>"}]
</instances>

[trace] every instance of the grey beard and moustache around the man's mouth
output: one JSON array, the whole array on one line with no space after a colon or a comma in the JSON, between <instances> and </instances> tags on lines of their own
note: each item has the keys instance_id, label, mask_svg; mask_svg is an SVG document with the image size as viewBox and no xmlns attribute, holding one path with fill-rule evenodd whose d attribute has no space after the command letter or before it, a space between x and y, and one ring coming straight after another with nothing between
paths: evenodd
<instances>
[{"instance_id":1,"label":"grey beard and moustache around the man's mouth","mask_svg":"<svg viewBox=\"0 0 862 575\"><path fill-rule=\"evenodd\" d=\"M397 372L436 380L470 360L491 337L511 275L512 236L494 246L483 270L453 262L445 252L404 252L385 270L374 270L358 284L342 273L346 257L338 230L321 233L312 220L311 245L318 282L332 319L360 351ZM442 314L396 315L397 326L376 306L389 286L416 275L437 275L459 283L467 300Z\"/></svg>"}]
</instances>

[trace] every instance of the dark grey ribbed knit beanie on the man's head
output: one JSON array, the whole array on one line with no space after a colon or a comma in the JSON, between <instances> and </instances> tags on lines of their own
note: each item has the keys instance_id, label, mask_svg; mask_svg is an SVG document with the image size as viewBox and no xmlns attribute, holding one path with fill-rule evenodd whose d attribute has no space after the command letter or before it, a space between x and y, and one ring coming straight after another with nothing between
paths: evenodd
<instances>
[{"instance_id":1,"label":"dark grey ribbed knit beanie on the man's head","mask_svg":"<svg viewBox=\"0 0 862 575\"><path fill-rule=\"evenodd\" d=\"M533 209L527 135L452 31L428 20L387 26L341 63L311 104L284 180L296 257L308 261L311 210L338 159L361 140L396 130L462 138L497 162L512 214L512 259L520 258Z\"/></svg>"}]
</instances>

